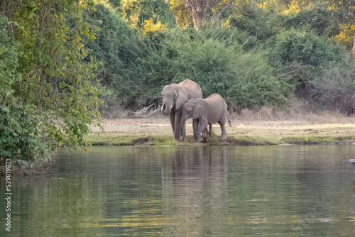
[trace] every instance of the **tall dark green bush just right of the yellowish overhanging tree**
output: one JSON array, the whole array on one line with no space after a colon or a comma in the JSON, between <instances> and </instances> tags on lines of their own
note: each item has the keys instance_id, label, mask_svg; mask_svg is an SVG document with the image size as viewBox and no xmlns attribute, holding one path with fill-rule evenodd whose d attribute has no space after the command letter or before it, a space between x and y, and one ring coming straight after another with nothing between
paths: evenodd
<instances>
[{"instance_id":1,"label":"tall dark green bush just right of the yellowish overhanging tree","mask_svg":"<svg viewBox=\"0 0 355 237\"><path fill-rule=\"evenodd\" d=\"M126 70L131 62L136 60L139 53L139 37L136 30L129 28L128 24L122 19L121 14L108 4L95 6L97 11L90 11L87 21L100 30L97 32L94 42L86 43L87 48L92 49L89 57L94 57L102 62L95 77L99 80L99 98L105 104L113 107L119 98L122 99L121 78L126 74ZM129 82L125 82L127 84ZM99 86L98 85L98 86Z\"/></svg>"}]
</instances>

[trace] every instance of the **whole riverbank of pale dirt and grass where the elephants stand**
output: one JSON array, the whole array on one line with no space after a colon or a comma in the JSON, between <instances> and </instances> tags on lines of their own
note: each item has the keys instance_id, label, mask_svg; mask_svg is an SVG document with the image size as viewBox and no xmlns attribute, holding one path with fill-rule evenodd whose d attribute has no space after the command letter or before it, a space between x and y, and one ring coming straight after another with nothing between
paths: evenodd
<instances>
[{"instance_id":1,"label":"whole riverbank of pale dirt and grass where the elephants stand","mask_svg":"<svg viewBox=\"0 0 355 237\"><path fill-rule=\"evenodd\" d=\"M232 116L226 127L228 138L219 140L221 130L214 124L214 136L202 143L192 141L192 123L187 123L187 137L173 141L167 117L104 119L104 131L92 127L87 140L92 145L278 145L355 143L355 118L339 114L312 114L295 120L268 116ZM261 119L261 118L264 118Z\"/></svg>"}]
</instances>

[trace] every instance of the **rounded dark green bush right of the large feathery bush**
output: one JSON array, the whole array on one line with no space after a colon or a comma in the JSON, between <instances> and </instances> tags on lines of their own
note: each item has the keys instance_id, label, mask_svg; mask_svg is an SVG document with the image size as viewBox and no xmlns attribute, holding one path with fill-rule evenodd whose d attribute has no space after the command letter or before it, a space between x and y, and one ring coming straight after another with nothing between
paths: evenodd
<instances>
[{"instance_id":1,"label":"rounded dark green bush right of the large feathery bush","mask_svg":"<svg viewBox=\"0 0 355 237\"><path fill-rule=\"evenodd\" d=\"M319 75L319 68L332 61L342 60L342 47L317 35L310 28L284 30L268 40L268 62L274 75L292 84L295 93L309 95L309 83Z\"/></svg>"}]
</instances>

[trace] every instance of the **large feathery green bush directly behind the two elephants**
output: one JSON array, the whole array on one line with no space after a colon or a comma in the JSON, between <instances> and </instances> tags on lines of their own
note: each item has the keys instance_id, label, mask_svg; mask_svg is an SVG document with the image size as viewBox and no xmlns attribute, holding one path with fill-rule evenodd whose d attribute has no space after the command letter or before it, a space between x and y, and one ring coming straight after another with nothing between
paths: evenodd
<instances>
[{"instance_id":1,"label":"large feathery green bush directly behind the two elephants","mask_svg":"<svg viewBox=\"0 0 355 237\"><path fill-rule=\"evenodd\" d=\"M166 84L192 79L204 97L218 93L233 109L284 104L290 86L272 75L262 53L244 53L236 34L214 27L174 29L146 40L146 53L117 82L121 103L141 108L160 103Z\"/></svg>"}]
</instances>

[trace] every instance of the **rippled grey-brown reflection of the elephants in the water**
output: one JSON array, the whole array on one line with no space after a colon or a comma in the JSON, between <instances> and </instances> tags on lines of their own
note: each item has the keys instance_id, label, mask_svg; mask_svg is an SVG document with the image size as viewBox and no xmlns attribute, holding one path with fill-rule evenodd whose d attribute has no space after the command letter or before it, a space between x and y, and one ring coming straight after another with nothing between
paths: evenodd
<instances>
[{"instance_id":1,"label":"rippled grey-brown reflection of the elephants in the water","mask_svg":"<svg viewBox=\"0 0 355 237\"><path fill-rule=\"evenodd\" d=\"M163 211L176 225L164 233L202 236L209 228L221 233L219 221L227 209L226 148L175 149L175 159L163 170Z\"/></svg>"}]
</instances>

